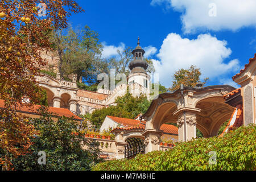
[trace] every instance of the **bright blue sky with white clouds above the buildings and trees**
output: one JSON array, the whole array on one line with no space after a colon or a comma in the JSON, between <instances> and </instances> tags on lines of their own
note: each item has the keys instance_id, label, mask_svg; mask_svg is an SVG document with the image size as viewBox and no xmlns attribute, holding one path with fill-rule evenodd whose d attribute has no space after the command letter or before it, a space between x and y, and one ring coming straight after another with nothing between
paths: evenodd
<instances>
[{"instance_id":1,"label":"bright blue sky with white clouds above the buildings and trees","mask_svg":"<svg viewBox=\"0 0 256 182\"><path fill-rule=\"evenodd\" d=\"M85 13L73 14L73 27L100 34L105 57L137 46L153 59L159 81L170 87L174 71L197 65L208 85L238 87L232 76L256 52L255 0L77 1ZM213 3L213 5L211 4Z\"/></svg>"}]
</instances>

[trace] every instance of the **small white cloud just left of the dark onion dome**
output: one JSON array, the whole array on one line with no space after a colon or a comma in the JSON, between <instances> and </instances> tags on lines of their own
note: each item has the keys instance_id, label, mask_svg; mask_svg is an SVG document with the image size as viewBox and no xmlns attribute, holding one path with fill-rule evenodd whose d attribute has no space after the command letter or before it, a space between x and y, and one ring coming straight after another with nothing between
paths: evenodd
<instances>
[{"instance_id":1,"label":"small white cloud just left of the dark onion dome","mask_svg":"<svg viewBox=\"0 0 256 182\"><path fill-rule=\"evenodd\" d=\"M120 52L123 52L123 50L125 49L125 44L124 43L120 43L118 47L115 46L107 46L107 44L105 42L102 43L103 45L103 50L101 52L101 56L104 58L109 58L109 57L114 57L118 55L118 50Z\"/></svg>"}]
</instances>

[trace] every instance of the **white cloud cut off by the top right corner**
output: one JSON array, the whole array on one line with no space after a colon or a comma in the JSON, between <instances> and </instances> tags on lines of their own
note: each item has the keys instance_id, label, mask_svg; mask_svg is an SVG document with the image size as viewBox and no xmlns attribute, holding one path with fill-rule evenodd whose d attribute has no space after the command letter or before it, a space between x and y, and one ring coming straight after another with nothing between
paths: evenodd
<instances>
[{"instance_id":1,"label":"white cloud cut off by the top right corner","mask_svg":"<svg viewBox=\"0 0 256 182\"><path fill-rule=\"evenodd\" d=\"M256 27L255 0L152 0L151 5L166 4L182 13L181 21L185 33L208 29L213 31L232 30L242 27ZM209 16L216 5L216 16ZM211 11L212 12L212 11Z\"/></svg>"}]
</instances>

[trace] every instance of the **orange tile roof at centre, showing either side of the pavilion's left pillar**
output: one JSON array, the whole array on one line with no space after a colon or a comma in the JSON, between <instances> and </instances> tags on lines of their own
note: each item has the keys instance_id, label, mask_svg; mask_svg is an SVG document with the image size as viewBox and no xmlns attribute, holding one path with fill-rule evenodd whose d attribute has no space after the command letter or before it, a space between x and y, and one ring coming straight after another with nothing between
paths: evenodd
<instances>
[{"instance_id":1,"label":"orange tile roof at centre, showing either side of the pavilion's left pillar","mask_svg":"<svg viewBox=\"0 0 256 182\"><path fill-rule=\"evenodd\" d=\"M121 125L125 126L125 127L143 127L143 129L145 128L144 125L142 125L139 120L135 120L135 119L127 119L127 118L119 118L119 117L113 117L113 116L109 116L107 115L108 118L112 119L113 121L120 123ZM170 134L178 134L178 128L174 125L166 125L163 124L160 127L160 130L163 130L164 133L170 133Z\"/></svg>"}]
</instances>

